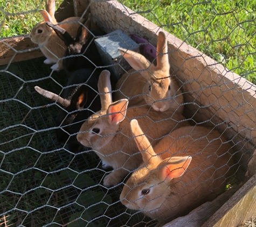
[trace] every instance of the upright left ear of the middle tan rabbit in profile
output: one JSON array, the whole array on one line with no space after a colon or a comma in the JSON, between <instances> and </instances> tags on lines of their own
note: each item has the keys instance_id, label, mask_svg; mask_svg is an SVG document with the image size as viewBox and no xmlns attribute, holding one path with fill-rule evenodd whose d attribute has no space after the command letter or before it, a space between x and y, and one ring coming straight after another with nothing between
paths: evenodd
<instances>
[{"instance_id":1,"label":"upright left ear of the middle tan rabbit in profile","mask_svg":"<svg viewBox=\"0 0 256 227\"><path fill-rule=\"evenodd\" d=\"M107 110L109 105L112 103L112 89L110 83L110 73L108 70L103 70L100 73L98 89L100 93L101 110Z\"/></svg>"}]
</instances>

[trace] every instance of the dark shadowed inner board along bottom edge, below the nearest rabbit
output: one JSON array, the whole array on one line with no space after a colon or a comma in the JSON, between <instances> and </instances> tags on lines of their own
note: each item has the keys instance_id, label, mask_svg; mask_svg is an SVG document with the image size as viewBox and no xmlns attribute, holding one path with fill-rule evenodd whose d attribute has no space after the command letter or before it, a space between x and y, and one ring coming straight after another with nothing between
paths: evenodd
<instances>
[{"instance_id":1,"label":"dark shadowed inner board along bottom edge, below the nearest rabbit","mask_svg":"<svg viewBox=\"0 0 256 227\"><path fill-rule=\"evenodd\" d=\"M184 217L178 217L174 221L165 224L163 227L201 227L229 198L236 192L237 188L232 188L219 195L215 200L206 202L200 207L192 210Z\"/></svg>"}]
</instances>

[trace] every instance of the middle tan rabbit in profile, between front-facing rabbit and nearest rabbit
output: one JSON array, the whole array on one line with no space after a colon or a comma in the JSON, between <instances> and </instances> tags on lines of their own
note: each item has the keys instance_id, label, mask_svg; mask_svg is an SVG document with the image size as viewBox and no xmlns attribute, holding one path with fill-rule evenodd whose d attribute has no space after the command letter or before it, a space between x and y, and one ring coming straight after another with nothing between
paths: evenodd
<instances>
[{"instance_id":1,"label":"middle tan rabbit in profile, between front-facing rabbit and nearest rabbit","mask_svg":"<svg viewBox=\"0 0 256 227\"><path fill-rule=\"evenodd\" d=\"M110 73L103 70L98 82L101 110L90 116L82 124L78 141L92 147L102 160L102 167L112 166L114 171L103 180L103 185L117 185L129 171L137 168L142 162L141 154L135 144L129 121L139 120L147 136L157 139L173 129L188 125L182 115L170 115L168 112L157 112L146 105L127 109L128 100L112 102ZM156 122L156 123L154 123ZM156 141L154 141L154 144Z\"/></svg>"}]
</instances>

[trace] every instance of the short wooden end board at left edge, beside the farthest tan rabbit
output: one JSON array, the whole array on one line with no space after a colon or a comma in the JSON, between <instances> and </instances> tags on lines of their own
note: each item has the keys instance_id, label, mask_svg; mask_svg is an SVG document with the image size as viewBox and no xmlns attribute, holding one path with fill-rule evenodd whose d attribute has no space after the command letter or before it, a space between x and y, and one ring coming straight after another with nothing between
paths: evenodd
<instances>
[{"instance_id":1,"label":"short wooden end board at left edge, beside the farthest tan rabbit","mask_svg":"<svg viewBox=\"0 0 256 227\"><path fill-rule=\"evenodd\" d=\"M41 56L43 53L38 45L30 40L29 35L0 39L0 65Z\"/></svg>"}]
</instances>

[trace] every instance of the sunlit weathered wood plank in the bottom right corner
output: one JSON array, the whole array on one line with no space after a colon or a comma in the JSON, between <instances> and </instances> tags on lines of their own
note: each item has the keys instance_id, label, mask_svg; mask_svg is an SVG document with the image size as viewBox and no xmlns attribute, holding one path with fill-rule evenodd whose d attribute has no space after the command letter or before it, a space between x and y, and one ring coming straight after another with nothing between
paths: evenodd
<instances>
[{"instance_id":1,"label":"sunlit weathered wood plank in the bottom right corner","mask_svg":"<svg viewBox=\"0 0 256 227\"><path fill-rule=\"evenodd\" d=\"M238 226L256 215L256 174L252 176L202 227Z\"/></svg>"}]
</instances>

